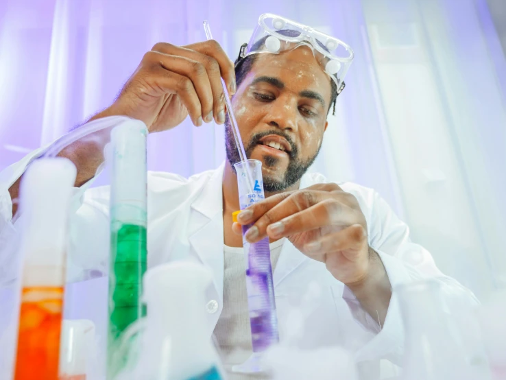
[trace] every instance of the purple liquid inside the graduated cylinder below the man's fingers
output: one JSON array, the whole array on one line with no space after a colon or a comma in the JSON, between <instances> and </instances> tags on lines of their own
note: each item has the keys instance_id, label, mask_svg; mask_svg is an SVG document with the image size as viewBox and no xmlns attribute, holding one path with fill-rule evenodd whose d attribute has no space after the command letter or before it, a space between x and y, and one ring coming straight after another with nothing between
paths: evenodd
<instances>
[{"instance_id":1,"label":"purple liquid inside the graduated cylinder below the man's fingers","mask_svg":"<svg viewBox=\"0 0 506 380\"><path fill-rule=\"evenodd\" d=\"M243 226L243 235L248 228ZM244 240L243 247L253 352L260 353L279 342L269 238L255 244Z\"/></svg>"}]
</instances>

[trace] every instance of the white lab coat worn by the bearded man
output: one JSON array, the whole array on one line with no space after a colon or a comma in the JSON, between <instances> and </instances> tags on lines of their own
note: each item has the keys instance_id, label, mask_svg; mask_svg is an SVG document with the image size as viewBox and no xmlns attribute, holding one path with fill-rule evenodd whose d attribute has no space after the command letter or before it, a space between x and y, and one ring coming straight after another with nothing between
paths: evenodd
<instances>
[{"instance_id":1,"label":"white lab coat worn by the bearded man","mask_svg":"<svg viewBox=\"0 0 506 380\"><path fill-rule=\"evenodd\" d=\"M16 261L8 248L16 223L11 222L12 202L7 189L39 154L40 150L29 154L0 174L0 280L4 284L16 274ZM148 267L192 259L209 268L213 286L206 294L206 305L202 305L208 312L209 335L223 309L223 171L224 165L190 178L160 172L148 174ZM323 182L326 179L321 174L305 174L300 188ZM367 220L369 244L381 257L392 287L432 277L442 283L444 294L457 296L468 304L477 302L468 289L439 272L428 251L410 241L409 228L378 193L349 182L339 185L359 201ZM106 261L108 187L86 187L76 189L72 235L79 243L69 265L89 270ZM282 342L301 348L341 345L353 351L358 360L386 358L399 362L404 334L395 295L380 329L323 263L304 256L289 241L282 247L274 271L274 289Z\"/></svg>"}]
</instances>

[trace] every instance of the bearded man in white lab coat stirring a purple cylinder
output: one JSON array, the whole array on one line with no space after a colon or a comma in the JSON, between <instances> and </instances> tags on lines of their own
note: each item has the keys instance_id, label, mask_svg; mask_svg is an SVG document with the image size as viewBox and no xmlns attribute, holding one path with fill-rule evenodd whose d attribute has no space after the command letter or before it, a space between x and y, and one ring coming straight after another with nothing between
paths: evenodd
<instances>
[{"instance_id":1,"label":"bearded man in white lab coat stirring a purple cylinder","mask_svg":"<svg viewBox=\"0 0 506 380\"><path fill-rule=\"evenodd\" d=\"M266 199L242 211L238 221L253 224L245 235L251 243L264 237L271 242L281 341L300 348L339 344L358 360L383 357L398 363L402 320L392 287L433 278L448 296L469 304L476 300L437 270L429 252L411 243L407 226L372 189L306 174L322 145L342 77L337 78L339 67L329 69L330 58L322 60L328 49L321 49L319 39L293 46L280 38L285 49L240 57L235 68L215 41L185 47L158 43L116 101L92 120L125 115L143 121L151 133L174 128L186 117L197 127L213 119L226 123L223 78L234 94L247 155L263 164ZM257 41L254 49L265 47L261 52L269 53L272 40ZM102 161L108 139L100 136L60 154L75 163L75 186L82 191ZM250 355L251 335L241 226L232 223L232 213L239 210L232 165L239 158L228 122L226 149L228 160L214 171L189 179L149 174L148 265L197 259L213 272L205 305L208 331L230 368ZM26 165L40 153L12 165L1 183L4 230L16 228L12 200ZM80 225L88 226L83 242L104 235L107 205L102 189L84 193L76 213Z\"/></svg>"}]
</instances>

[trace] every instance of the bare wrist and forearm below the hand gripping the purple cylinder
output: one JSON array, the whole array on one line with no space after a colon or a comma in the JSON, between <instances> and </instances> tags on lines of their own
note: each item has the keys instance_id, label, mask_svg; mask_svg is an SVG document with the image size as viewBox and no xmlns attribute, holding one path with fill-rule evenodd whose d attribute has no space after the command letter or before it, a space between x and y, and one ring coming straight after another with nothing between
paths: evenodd
<instances>
[{"instance_id":1,"label":"bare wrist and forearm below the hand gripping the purple cylinder","mask_svg":"<svg viewBox=\"0 0 506 380\"><path fill-rule=\"evenodd\" d=\"M391 285L380 257L372 248L369 250L370 275L360 283L346 285L357 297L361 307L383 326L391 298Z\"/></svg>"}]
</instances>

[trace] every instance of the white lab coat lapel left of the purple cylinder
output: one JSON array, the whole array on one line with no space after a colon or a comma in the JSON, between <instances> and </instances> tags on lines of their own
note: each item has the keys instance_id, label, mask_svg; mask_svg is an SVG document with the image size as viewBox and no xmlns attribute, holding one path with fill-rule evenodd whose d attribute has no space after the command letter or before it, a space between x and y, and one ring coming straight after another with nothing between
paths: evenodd
<instances>
[{"instance_id":1,"label":"white lab coat lapel left of the purple cylinder","mask_svg":"<svg viewBox=\"0 0 506 380\"><path fill-rule=\"evenodd\" d=\"M215 170L203 185L202 193L191 204L195 211L191 223L196 230L189 236L191 247L213 273L213 281L221 299L224 276L223 173L224 164Z\"/></svg>"}]
</instances>

